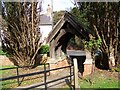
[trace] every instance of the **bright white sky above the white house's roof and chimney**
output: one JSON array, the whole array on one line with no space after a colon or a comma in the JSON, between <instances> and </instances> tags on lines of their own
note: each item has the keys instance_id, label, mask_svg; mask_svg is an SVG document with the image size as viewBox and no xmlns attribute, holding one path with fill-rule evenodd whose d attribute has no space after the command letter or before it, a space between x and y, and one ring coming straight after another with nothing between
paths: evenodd
<instances>
[{"instance_id":1,"label":"bright white sky above the white house's roof and chimney","mask_svg":"<svg viewBox=\"0 0 120 90\"><path fill-rule=\"evenodd\" d=\"M43 0L43 10L46 11L48 4L53 2L53 11L69 10L74 7L74 0ZM72 1L72 2L71 2Z\"/></svg>"}]
</instances>

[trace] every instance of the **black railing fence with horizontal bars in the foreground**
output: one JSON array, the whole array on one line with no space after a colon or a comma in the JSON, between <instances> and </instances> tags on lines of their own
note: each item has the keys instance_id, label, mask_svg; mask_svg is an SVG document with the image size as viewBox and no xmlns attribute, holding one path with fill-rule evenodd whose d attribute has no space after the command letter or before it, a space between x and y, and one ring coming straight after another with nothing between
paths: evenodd
<instances>
[{"instance_id":1,"label":"black railing fence with horizontal bars in the foreground","mask_svg":"<svg viewBox=\"0 0 120 90\"><path fill-rule=\"evenodd\" d=\"M29 67L29 66L0 69L0 70L16 69L16 76L10 76L10 77L5 77L5 78L0 78L0 81L17 79L18 86L20 86L19 78L33 76L33 75L38 75L38 74L44 74L44 82L38 83L38 84L35 84L35 85L26 86L26 87L24 87L24 89L32 89L32 88L44 85L45 86L45 90L47 90L47 84L49 84L49 83L56 82L58 80L62 80L62 79L68 78L68 77L70 78L70 82L72 81L72 76L74 75L74 74L72 74L73 64L71 64L70 66L66 66L66 67L55 68L55 69L48 69L48 70L46 69L46 64L44 64L43 66L44 66L44 70L43 71L34 72L34 73L28 73L28 74L22 74L22 75L19 75L19 68L25 68L25 67ZM60 69L65 69L65 68L69 68L70 69L70 75L67 75L67 76L64 76L64 77L61 77L61 78L57 78L57 79L54 79L54 80L51 80L51 81L47 81L47 73L48 72L50 73L50 71L55 71L55 70L60 70Z\"/></svg>"}]
</instances>

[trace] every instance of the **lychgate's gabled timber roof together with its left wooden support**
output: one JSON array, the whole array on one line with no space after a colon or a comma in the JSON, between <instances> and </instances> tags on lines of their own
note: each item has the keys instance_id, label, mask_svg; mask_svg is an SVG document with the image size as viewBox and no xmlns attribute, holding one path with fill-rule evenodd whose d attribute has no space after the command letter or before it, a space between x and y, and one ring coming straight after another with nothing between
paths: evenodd
<instances>
[{"instance_id":1,"label":"lychgate's gabled timber roof together with its left wooden support","mask_svg":"<svg viewBox=\"0 0 120 90\"><path fill-rule=\"evenodd\" d=\"M89 40L89 29L79 23L69 12L65 12L48 35L47 42L50 44L50 57L65 56L67 44L75 35Z\"/></svg>"}]
</instances>

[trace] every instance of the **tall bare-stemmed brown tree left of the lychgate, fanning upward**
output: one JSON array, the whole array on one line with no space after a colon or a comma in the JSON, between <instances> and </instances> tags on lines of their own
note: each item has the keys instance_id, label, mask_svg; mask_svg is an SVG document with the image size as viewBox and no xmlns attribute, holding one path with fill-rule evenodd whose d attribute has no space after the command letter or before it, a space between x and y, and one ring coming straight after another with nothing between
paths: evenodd
<instances>
[{"instance_id":1,"label":"tall bare-stemmed brown tree left of the lychgate, fanning upward","mask_svg":"<svg viewBox=\"0 0 120 90\"><path fill-rule=\"evenodd\" d=\"M3 50L18 66L36 64L41 47L37 2L2 2L1 39Z\"/></svg>"}]
</instances>

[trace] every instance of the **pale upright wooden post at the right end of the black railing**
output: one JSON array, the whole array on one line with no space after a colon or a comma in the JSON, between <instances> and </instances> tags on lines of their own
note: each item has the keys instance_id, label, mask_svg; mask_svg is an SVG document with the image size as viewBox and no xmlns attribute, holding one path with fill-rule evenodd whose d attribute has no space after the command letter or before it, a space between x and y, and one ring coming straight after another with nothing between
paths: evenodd
<instances>
[{"instance_id":1,"label":"pale upright wooden post at the right end of the black railing","mask_svg":"<svg viewBox=\"0 0 120 90\"><path fill-rule=\"evenodd\" d=\"M73 59L74 63L74 85L75 85L75 90L80 90L80 86L78 85L78 64L77 64L77 59Z\"/></svg>"}]
</instances>

